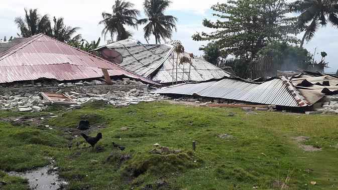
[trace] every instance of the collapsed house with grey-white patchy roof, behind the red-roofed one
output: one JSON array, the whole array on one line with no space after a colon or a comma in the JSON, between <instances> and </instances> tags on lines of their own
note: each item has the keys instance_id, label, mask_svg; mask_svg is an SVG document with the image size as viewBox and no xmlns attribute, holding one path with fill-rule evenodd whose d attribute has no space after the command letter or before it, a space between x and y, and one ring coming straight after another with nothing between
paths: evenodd
<instances>
[{"instance_id":1,"label":"collapsed house with grey-white patchy roof, behind the red-roofed one","mask_svg":"<svg viewBox=\"0 0 338 190\"><path fill-rule=\"evenodd\" d=\"M150 45L127 39L94 51L107 48L122 54L124 60L120 64L121 67L162 84L207 81L231 76L230 73L196 56L191 59L191 64L178 64L180 58L189 57L189 54L177 54L174 51L175 46L169 44Z\"/></svg>"}]
</instances>

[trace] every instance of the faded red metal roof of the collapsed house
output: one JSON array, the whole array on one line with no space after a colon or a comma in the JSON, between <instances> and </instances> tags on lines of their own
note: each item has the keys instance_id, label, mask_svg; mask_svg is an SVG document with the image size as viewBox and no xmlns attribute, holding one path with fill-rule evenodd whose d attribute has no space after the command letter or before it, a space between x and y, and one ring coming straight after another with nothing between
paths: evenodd
<instances>
[{"instance_id":1,"label":"faded red metal roof of the collapsed house","mask_svg":"<svg viewBox=\"0 0 338 190\"><path fill-rule=\"evenodd\" d=\"M27 38L17 46L0 53L0 83L48 78L79 80L110 76L128 76L146 83L159 83L128 71L116 64L59 42L44 34Z\"/></svg>"}]
</instances>

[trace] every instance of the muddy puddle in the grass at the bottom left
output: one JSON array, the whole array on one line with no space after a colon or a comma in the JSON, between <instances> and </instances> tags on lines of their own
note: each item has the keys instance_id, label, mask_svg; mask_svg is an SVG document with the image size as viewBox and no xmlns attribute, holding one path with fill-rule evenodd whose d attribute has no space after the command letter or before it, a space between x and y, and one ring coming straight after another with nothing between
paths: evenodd
<instances>
[{"instance_id":1,"label":"muddy puddle in the grass at the bottom left","mask_svg":"<svg viewBox=\"0 0 338 190\"><path fill-rule=\"evenodd\" d=\"M38 168L26 172L10 172L10 175L27 178L32 189L62 189L61 186L67 184L58 178L56 169L53 165Z\"/></svg>"}]
</instances>

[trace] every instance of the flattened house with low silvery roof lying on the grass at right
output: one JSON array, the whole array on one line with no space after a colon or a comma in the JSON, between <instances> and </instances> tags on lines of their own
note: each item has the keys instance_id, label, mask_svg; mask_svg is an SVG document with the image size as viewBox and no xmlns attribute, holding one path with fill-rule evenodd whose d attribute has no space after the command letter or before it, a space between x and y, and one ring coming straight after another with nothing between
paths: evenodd
<instances>
[{"instance_id":1,"label":"flattened house with low silvery roof lying on the grass at right","mask_svg":"<svg viewBox=\"0 0 338 190\"><path fill-rule=\"evenodd\" d=\"M310 110L311 106L325 96L318 91L297 88L286 77L270 78L265 82L225 77L207 82L163 87L152 93L174 97L193 96L204 102L212 100L214 103L225 104L265 104L277 106L278 109L293 110Z\"/></svg>"}]
</instances>

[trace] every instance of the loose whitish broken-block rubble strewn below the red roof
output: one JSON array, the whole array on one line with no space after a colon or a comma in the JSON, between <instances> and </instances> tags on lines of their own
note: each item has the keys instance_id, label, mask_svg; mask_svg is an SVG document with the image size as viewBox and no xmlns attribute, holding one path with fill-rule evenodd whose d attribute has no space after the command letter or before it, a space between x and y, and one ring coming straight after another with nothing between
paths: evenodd
<instances>
[{"instance_id":1,"label":"loose whitish broken-block rubble strewn below the red roof","mask_svg":"<svg viewBox=\"0 0 338 190\"><path fill-rule=\"evenodd\" d=\"M69 105L69 102L65 102L65 105L69 106L68 109L80 108L83 103L98 100L107 102L108 104L116 107L123 107L128 105L137 105L140 102L154 102L167 99L167 97L159 94L149 94L147 88L144 88L143 90L131 89L128 92L109 91L106 94L82 94L73 91L63 92L62 90L59 90L57 93L68 94L73 100L75 100L75 102L71 105ZM34 95L26 93L24 96L0 95L0 109L3 111L41 112L46 110L49 105L53 105L53 102L44 100L41 93Z\"/></svg>"}]
</instances>

